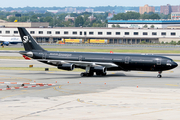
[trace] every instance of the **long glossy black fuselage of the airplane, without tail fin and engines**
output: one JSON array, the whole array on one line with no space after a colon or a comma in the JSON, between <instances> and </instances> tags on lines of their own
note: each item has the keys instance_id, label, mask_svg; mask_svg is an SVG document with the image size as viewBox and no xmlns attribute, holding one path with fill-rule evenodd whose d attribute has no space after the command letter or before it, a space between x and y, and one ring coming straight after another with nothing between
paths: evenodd
<instances>
[{"instance_id":1,"label":"long glossy black fuselage of the airplane, without tail fin and engines","mask_svg":"<svg viewBox=\"0 0 180 120\"><path fill-rule=\"evenodd\" d=\"M50 65L57 66L48 60L60 61L82 61L90 63L113 63L117 67L107 68L109 71L116 70L139 70L139 71L165 71L177 67L172 59L148 55L148 54L110 54L110 53L84 53L84 52L33 52L33 59L46 60L41 61ZM81 65L76 65L81 67Z\"/></svg>"}]
</instances>

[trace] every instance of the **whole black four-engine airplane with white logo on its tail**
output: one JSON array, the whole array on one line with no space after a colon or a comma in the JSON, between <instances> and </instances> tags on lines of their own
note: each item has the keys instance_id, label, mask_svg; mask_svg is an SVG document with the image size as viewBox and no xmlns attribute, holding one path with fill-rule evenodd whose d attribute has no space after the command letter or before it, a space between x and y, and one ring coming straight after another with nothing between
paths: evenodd
<instances>
[{"instance_id":1,"label":"whole black four-engine airplane with white logo on its tail","mask_svg":"<svg viewBox=\"0 0 180 120\"><path fill-rule=\"evenodd\" d=\"M161 78L162 71L178 66L172 59L148 54L111 54L85 52L51 52L44 50L27 30L18 27L25 51L19 53L39 62L57 66L58 69L72 71L85 69L83 76L105 76L107 71L154 71Z\"/></svg>"}]
</instances>

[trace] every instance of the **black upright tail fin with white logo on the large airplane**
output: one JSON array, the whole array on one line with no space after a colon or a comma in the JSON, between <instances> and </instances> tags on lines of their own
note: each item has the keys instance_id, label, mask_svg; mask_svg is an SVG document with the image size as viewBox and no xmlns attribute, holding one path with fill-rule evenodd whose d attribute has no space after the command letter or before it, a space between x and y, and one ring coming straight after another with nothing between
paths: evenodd
<instances>
[{"instance_id":1,"label":"black upright tail fin with white logo on the large airplane","mask_svg":"<svg viewBox=\"0 0 180 120\"><path fill-rule=\"evenodd\" d=\"M28 33L28 31L24 27L18 27L18 30L21 36L22 43L24 45L24 49L26 51L45 51L41 46L37 44L36 40L34 40L34 38Z\"/></svg>"}]
</instances>

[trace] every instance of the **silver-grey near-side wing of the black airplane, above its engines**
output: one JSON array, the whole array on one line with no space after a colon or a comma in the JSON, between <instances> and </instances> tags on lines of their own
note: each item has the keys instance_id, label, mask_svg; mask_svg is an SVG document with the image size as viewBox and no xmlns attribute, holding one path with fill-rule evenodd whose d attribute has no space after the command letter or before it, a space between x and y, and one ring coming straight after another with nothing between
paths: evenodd
<instances>
[{"instance_id":1,"label":"silver-grey near-side wing of the black airplane, above its engines","mask_svg":"<svg viewBox=\"0 0 180 120\"><path fill-rule=\"evenodd\" d=\"M38 60L38 61L46 61L47 63L52 63L54 65L58 65L58 64L74 64L74 65L78 65L78 66L104 66L106 68L111 68L111 67L118 67L118 65L114 64L114 63L104 63L104 62L85 62L85 61L64 61L64 60Z\"/></svg>"}]
</instances>

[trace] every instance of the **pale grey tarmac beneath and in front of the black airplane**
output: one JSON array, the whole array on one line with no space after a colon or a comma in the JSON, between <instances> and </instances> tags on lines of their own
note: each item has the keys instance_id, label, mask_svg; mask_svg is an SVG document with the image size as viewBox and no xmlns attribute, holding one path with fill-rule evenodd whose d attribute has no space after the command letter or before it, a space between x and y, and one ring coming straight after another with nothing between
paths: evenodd
<instances>
[{"instance_id":1,"label":"pale grey tarmac beneath and in front of the black airplane","mask_svg":"<svg viewBox=\"0 0 180 120\"><path fill-rule=\"evenodd\" d=\"M50 67L34 60L0 60L0 67L30 64ZM179 120L179 71L180 66L157 78L158 73L143 71L80 77L73 71L0 70L0 82L53 84L0 91L0 120ZM0 89L7 85L21 86L0 84Z\"/></svg>"}]
</instances>

